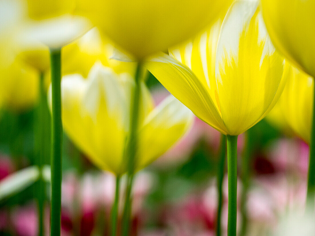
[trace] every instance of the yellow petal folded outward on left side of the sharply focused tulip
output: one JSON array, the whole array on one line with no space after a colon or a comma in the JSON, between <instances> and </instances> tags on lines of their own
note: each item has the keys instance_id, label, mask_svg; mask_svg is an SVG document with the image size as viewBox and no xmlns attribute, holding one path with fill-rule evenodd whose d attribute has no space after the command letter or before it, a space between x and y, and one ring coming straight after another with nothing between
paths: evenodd
<instances>
[{"instance_id":1,"label":"yellow petal folded outward on left side of the sharply focused tulip","mask_svg":"<svg viewBox=\"0 0 315 236\"><path fill-rule=\"evenodd\" d=\"M146 68L201 120L226 134L220 112L195 74L174 58L163 54L145 63Z\"/></svg>"}]
</instances>

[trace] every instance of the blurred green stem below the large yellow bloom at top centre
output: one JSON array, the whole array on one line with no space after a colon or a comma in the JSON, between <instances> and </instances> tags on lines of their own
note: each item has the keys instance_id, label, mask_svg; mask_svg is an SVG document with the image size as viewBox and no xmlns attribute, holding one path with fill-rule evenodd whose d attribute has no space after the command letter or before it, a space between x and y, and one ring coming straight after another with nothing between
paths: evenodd
<instances>
[{"instance_id":1,"label":"blurred green stem below the large yellow bloom at top centre","mask_svg":"<svg viewBox=\"0 0 315 236\"><path fill-rule=\"evenodd\" d=\"M131 189L133 183L133 176L135 173L136 151L137 151L137 130L139 120L139 104L141 98L141 63L138 63L135 73L135 88L131 96L131 109L130 109L130 131L129 139L126 146L126 156L128 157L128 181L126 189L125 205L123 209L123 236L127 236L130 226L130 213L131 213Z\"/></svg>"}]
</instances>

